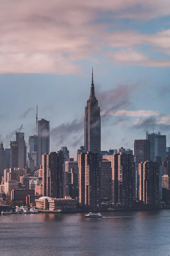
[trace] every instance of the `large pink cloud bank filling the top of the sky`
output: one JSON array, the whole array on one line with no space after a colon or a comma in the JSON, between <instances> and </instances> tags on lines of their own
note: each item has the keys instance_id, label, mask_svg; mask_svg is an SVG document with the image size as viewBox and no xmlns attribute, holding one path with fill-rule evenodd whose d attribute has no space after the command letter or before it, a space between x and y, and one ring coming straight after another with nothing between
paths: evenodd
<instances>
[{"instance_id":1,"label":"large pink cloud bank filling the top of the sky","mask_svg":"<svg viewBox=\"0 0 170 256\"><path fill-rule=\"evenodd\" d=\"M98 59L105 54L103 47L170 48L170 30L152 35L113 31L106 22L108 18L146 20L169 15L168 0L8 0L0 1L0 10L0 73L81 74L77 61L95 60L94 53ZM169 60L148 60L138 52L129 57L137 65L169 66ZM115 58L124 61L128 55L118 53Z\"/></svg>"}]
</instances>

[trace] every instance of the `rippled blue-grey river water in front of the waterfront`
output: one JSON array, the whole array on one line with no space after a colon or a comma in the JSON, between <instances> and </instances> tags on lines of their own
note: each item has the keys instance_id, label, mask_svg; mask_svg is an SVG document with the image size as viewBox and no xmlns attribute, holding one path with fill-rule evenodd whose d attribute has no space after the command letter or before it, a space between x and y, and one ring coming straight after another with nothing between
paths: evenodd
<instances>
[{"instance_id":1,"label":"rippled blue-grey river water in front of the waterfront","mask_svg":"<svg viewBox=\"0 0 170 256\"><path fill-rule=\"evenodd\" d=\"M2 256L168 256L170 210L0 216Z\"/></svg>"}]
</instances>

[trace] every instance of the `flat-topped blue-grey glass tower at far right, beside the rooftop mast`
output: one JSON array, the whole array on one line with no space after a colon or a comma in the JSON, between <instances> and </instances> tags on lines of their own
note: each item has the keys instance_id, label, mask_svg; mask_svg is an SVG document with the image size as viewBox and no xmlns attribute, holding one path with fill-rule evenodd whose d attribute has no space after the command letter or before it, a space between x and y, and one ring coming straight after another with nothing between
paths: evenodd
<instances>
[{"instance_id":1,"label":"flat-topped blue-grey glass tower at far right, beside the rooftop mast","mask_svg":"<svg viewBox=\"0 0 170 256\"><path fill-rule=\"evenodd\" d=\"M155 158L160 157L165 161L166 157L166 135L155 135Z\"/></svg>"}]
</instances>

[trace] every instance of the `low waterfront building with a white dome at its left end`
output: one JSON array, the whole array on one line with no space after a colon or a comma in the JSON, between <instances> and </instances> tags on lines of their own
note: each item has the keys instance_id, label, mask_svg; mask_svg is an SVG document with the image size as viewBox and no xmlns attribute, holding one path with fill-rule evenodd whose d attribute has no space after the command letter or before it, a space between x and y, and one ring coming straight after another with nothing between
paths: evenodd
<instances>
[{"instance_id":1,"label":"low waterfront building with a white dome at its left end","mask_svg":"<svg viewBox=\"0 0 170 256\"><path fill-rule=\"evenodd\" d=\"M36 208L49 211L74 211L77 210L77 199L72 199L70 196L65 198L50 198L42 196L35 199Z\"/></svg>"}]
</instances>

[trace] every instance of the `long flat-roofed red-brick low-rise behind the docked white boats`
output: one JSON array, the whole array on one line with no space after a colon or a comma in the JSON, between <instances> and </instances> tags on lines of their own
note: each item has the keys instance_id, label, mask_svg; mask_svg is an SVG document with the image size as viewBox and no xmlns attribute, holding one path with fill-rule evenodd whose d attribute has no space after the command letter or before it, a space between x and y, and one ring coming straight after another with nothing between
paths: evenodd
<instances>
[{"instance_id":1,"label":"long flat-roofed red-brick low-rise behind the docked white boats","mask_svg":"<svg viewBox=\"0 0 170 256\"><path fill-rule=\"evenodd\" d=\"M34 196L34 189L13 189L11 191L11 200L20 201L23 200L26 202L26 196Z\"/></svg>"}]
</instances>

